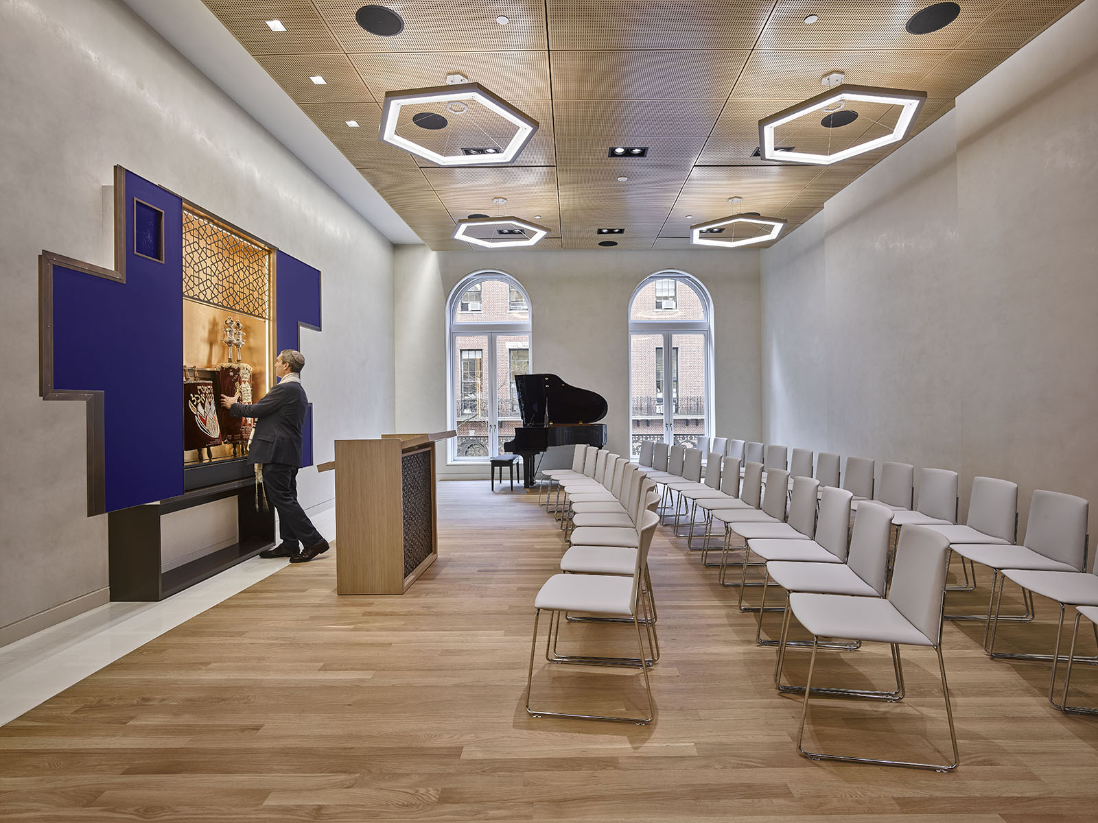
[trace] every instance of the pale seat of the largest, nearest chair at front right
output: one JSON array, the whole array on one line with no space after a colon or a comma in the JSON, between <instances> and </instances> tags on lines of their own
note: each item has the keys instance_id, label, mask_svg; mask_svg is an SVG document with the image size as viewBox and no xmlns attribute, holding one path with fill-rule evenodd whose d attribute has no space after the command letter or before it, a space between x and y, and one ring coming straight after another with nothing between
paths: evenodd
<instances>
[{"instance_id":1,"label":"pale seat of the largest, nearest chair at front right","mask_svg":"<svg viewBox=\"0 0 1098 823\"><path fill-rule=\"evenodd\" d=\"M797 621L817 638L933 645L895 606L877 597L797 593L789 595L789 608Z\"/></svg>"}]
</instances>

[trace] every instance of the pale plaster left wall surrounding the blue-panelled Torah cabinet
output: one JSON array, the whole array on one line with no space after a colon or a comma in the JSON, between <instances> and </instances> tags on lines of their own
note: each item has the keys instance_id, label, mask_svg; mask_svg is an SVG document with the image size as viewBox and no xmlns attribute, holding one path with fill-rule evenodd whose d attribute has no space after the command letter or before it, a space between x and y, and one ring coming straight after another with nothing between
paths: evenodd
<instances>
[{"instance_id":1,"label":"pale plaster left wall surrounding the blue-panelled Torah cabinet","mask_svg":"<svg viewBox=\"0 0 1098 823\"><path fill-rule=\"evenodd\" d=\"M113 264L114 164L321 269L324 331L302 332L320 461L337 437L392 429L393 304L390 243L116 0L0 0L0 110L2 629L107 586L83 408L37 394L36 257ZM330 500L332 475L304 470L299 489L305 506Z\"/></svg>"}]
</instances>

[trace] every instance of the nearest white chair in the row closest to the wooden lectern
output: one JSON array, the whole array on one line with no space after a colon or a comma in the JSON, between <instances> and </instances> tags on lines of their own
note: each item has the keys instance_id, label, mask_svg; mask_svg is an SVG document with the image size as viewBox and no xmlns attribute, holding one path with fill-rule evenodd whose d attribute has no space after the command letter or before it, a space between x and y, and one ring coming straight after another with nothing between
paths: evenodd
<instances>
[{"instance_id":1,"label":"nearest white chair in the row closest to the wooden lectern","mask_svg":"<svg viewBox=\"0 0 1098 823\"><path fill-rule=\"evenodd\" d=\"M579 720L614 720L621 722L637 723L645 725L652 721L656 715L656 704L652 700L652 685L649 681L648 668L654 663L656 650L650 645L650 653L645 651L645 641L641 635L640 618L645 608L645 598L641 596L641 585L643 575L641 570L648 563L648 550L652 541L652 534L659 518L654 512L648 512L639 532L638 551L634 562L632 575L629 577L606 574L556 574L546 580L538 591L534 601L534 638L530 641L530 663L526 674L526 711L535 718L574 718ZM554 711L552 709L533 708L530 706L530 691L534 684L534 654L538 644L538 622L541 612L549 615L549 638L548 649L556 650L558 636L560 634L560 615L564 612L583 612L602 617L627 618L632 622L637 632L637 651L635 658L613 658L594 655L562 655L554 654L550 657L551 663L573 664L573 665L627 665L636 666L640 669L645 678L645 691L648 697L647 714L640 717L620 714L578 714L570 712Z\"/></svg>"}]
</instances>

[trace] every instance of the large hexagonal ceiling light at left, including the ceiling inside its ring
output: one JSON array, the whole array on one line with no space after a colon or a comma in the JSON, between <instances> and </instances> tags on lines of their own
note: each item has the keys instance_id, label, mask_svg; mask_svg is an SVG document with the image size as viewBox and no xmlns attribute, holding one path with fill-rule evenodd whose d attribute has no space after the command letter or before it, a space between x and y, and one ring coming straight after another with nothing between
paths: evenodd
<instances>
[{"instance_id":1,"label":"large hexagonal ceiling light at left, including the ceiling inside its ring","mask_svg":"<svg viewBox=\"0 0 1098 823\"><path fill-rule=\"evenodd\" d=\"M498 166L537 131L536 120L480 83L448 82L388 92L378 138L439 166Z\"/></svg>"}]
</instances>

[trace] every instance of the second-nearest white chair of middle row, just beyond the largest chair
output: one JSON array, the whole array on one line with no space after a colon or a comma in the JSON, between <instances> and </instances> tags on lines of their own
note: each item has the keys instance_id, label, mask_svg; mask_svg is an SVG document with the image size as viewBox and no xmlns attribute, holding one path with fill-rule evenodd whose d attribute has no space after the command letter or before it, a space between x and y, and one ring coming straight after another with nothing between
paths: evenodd
<instances>
[{"instance_id":1,"label":"second-nearest white chair of middle row, just beyond the largest chair","mask_svg":"<svg viewBox=\"0 0 1098 823\"><path fill-rule=\"evenodd\" d=\"M849 494L849 492L843 493ZM842 527L842 511L834 512L834 523ZM850 595L852 597L884 597L888 576L888 543L892 531L892 512L884 506L866 504L854 517L854 532L845 563L814 563L810 561L773 561L766 563L766 580L762 589L762 610L759 612L759 631L755 642L761 645L805 645L804 641L788 640L788 599L793 591L811 591L818 595ZM763 640L762 621L766 610L766 589L774 580L785 589L786 619L782 623L782 640ZM845 646L845 644L843 644ZM845 646L849 647L849 646ZM783 690L799 687L782 686L782 658L774 668L774 683Z\"/></svg>"}]
</instances>

